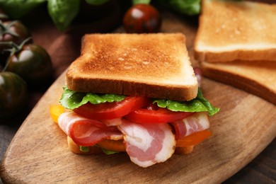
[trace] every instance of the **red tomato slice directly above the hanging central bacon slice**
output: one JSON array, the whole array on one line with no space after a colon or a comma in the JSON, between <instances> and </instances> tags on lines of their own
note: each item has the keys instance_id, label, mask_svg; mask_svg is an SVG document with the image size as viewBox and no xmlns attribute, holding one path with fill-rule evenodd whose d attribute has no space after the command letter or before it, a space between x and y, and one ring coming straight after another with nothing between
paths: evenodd
<instances>
[{"instance_id":1,"label":"red tomato slice directly above the hanging central bacon slice","mask_svg":"<svg viewBox=\"0 0 276 184\"><path fill-rule=\"evenodd\" d=\"M189 115L192 113L173 112L167 108L141 108L129 113L125 118L139 123L166 123L182 120Z\"/></svg>"}]
</instances>

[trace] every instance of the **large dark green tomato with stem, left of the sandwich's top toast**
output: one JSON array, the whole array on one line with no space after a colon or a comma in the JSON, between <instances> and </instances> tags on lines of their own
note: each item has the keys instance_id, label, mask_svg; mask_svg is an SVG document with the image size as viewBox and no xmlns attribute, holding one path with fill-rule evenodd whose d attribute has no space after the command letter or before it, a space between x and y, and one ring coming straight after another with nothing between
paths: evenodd
<instances>
[{"instance_id":1,"label":"large dark green tomato with stem, left of the sandwich's top toast","mask_svg":"<svg viewBox=\"0 0 276 184\"><path fill-rule=\"evenodd\" d=\"M43 47L27 44L8 57L6 71L20 75L28 84L39 85L52 76L52 62Z\"/></svg>"}]
</instances>

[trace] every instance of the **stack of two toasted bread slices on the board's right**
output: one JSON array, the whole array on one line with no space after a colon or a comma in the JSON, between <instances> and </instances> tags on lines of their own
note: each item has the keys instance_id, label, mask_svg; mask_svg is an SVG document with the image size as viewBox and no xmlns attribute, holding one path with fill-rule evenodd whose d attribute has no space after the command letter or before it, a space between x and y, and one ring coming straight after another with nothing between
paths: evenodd
<instances>
[{"instance_id":1,"label":"stack of two toasted bread slices on the board's right","mask_svg":"<svg viewBox=\"0 0 276 184\"><path fill-rule=\"evenodd\" d=\"M276 104L276 4L204 0L195 38L202 74Z\"/></svg>"}]
</instances>

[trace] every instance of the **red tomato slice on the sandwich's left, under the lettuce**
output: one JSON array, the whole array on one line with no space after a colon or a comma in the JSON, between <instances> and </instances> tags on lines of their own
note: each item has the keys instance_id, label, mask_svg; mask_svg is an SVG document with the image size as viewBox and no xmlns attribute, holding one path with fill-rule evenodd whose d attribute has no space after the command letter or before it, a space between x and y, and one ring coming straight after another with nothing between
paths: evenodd
<instances>
[{"instance_id":1,"label":"red tomato slice on the sandwich's left, under the lettuce","mask_svg":"<svg viewBox=\"0 0 276 184\"><path fill-rule=\"evenodd\" d=\"M95 120L113 120L149 104L149 98L142 96L128 96L120 102L91 104L86 103L74 112Z\"/></svg>"}]
</instances>

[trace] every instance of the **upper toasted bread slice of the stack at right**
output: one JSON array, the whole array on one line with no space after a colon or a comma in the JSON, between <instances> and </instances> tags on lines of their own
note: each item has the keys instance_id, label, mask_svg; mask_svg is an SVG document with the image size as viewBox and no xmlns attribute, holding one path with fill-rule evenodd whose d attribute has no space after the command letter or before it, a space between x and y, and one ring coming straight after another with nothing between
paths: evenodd
<instances>
[{"instance_id":1,"label":"upper toasted bread slice of the stack at right","mask_svg":"<svg viewBox=\"0 0 276 184\"><path fill-rule=\"evenodd\" d=\"M195 38L200 62L276 61L276 4L202 1Z\"/></svg>"}]
</instances>

